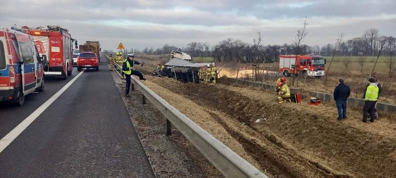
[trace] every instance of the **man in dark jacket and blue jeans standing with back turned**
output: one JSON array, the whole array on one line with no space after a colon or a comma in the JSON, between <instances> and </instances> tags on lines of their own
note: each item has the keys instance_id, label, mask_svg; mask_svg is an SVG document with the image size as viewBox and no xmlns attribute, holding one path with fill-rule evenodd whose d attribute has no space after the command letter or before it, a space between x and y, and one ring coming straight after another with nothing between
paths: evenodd
<instances>
[{"instance_id":1,"label":"man in dark jacket and blue jeans standing with back turned","mask_svg":"<svg viewBox=\"0 0 396 178\"><path fill-rule=\"evenodd\" d=\"M338 110L337 120L341 121L347 119L347 100L350 95L350 89L344 84L343 79L339 79L338 82L338 86L334 89L334 100L336 100Z\"/></svg>"}]
</instances>

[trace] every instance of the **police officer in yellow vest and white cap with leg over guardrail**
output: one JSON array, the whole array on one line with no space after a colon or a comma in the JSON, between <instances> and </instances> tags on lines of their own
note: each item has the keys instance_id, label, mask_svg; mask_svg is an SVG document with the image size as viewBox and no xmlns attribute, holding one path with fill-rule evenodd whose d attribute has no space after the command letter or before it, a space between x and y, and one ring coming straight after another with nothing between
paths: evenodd
<instances>
[{"instance_id":1,"label":"police officer in yellow vest and white cap with leg over guardrail","mask_svg":"<svg viewBox=\"0 0 396 178\"><path fill-rule=\"evenodd\" d=\"M125 94L126 97L131 97L129 95L129 89L131 88L131 75L136 75L139 76L140 80L146 80L143 77L143 74L139 72L138 70L135 69L135 64L140 64L140 62L135 61L133 58L135 57L135 54L128 54L128 58L124 60L122 63L122 71L125 73L125 79L126 79L126 87L125 87Z\"/></svg>"}]
</instances>

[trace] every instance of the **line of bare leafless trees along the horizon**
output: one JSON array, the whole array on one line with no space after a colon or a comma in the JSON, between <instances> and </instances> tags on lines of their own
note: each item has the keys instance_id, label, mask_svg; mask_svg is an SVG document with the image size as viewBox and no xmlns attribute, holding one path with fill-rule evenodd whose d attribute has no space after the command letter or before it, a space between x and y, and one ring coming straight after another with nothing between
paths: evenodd
<instances>
[{"instance_id":1,"label":"line of bare leafless trees along the horizon","mask_svg":"<svg viewBox=\"0 0 396 178\"><path fill-rule=\"evenodd\" d=\"M306 23L306 22L305 22ZM171 50L178 50L189 53L192 57L214 57L218 62L274 62L279 60L281 54L314 54L322 56L376 56L380 51L381 55L393 56L396 51L396 38L392 36L381 36L377 29L367 29L361 37L356 37L341 44L335 49L333 44L309 46L302 44L305 37L305 25L297 30L296 40L293 44L283 45L262 45L261 33L253 39L253 44L236 39L226 39L218 44L211 46L208 43L191 42L184 47L164 45L161 48L152 47L134 52L146 54L165 54ZM386 40L381 48L381 41Z\"/></svg>"}]
</instances>

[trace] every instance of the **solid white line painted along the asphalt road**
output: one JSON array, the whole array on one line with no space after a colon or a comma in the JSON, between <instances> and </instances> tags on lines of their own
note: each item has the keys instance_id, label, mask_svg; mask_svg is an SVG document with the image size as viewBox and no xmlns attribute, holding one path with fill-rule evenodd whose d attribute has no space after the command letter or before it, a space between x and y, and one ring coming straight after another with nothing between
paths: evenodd
<instances>
[{"instance_id":1,"label":"solid white line painted along the asphalt road","mask_svg":"<svg viewBox=\"0 0 396 178\"><path fill-rule=\"evenodd\" d=\"M70 82L62 87L58 92L56 92L52 97L50 97L43 105L37 108L32 114L30 114L25 120L23 120L18 126L16 126L11 132L5 135L0 140L0 153L19 135L21 134L32 122L43 113L49 105L52 104L67 88L69 88L74 81L76 81L83 72L80 72L76 77L74 77Z\"/></svg>"}]
</instances>

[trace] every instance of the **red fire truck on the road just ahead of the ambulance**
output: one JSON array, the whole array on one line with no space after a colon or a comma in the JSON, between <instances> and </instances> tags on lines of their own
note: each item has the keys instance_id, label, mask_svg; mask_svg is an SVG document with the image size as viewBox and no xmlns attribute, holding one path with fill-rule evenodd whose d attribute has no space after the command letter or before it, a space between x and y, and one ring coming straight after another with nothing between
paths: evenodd
<instances>
[{"instance_id":1,"label":"red fire truck on the road just ahead of the ambulance","mask_svg":"<svg viewBox=\"0 0 396 178\"><path fill-rule=\"evenodd\" d=\"M47 55L48 61L44 66L46 75L59 76L67 79L73 70L73 45L77 41L71 38L67 29L59 26L47 26L38 28L23 27L26 32L33 36L33 40L37 46L40 55Z\"/></svg>"}]
</instances>

